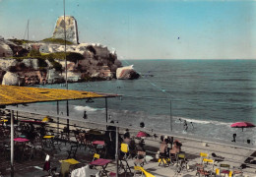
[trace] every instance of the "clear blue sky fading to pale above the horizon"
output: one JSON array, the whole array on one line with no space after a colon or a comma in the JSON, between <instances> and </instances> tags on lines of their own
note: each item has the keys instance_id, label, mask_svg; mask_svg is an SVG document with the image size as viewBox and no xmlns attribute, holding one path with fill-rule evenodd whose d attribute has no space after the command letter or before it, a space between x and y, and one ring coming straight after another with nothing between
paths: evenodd
<instances>
[{"instance_id":1,"label":"clear blue sky fading to pale above the horizon","mask_svg":"<svg viewBox=\"0 0 256 177\"><path fill-rule=\"evenodd\" d=\"M80 42L119 59L256 59L253 0L66 0ZM52 35L63 0L0 0L0 35Z\"/></svg>"}]
</instances>

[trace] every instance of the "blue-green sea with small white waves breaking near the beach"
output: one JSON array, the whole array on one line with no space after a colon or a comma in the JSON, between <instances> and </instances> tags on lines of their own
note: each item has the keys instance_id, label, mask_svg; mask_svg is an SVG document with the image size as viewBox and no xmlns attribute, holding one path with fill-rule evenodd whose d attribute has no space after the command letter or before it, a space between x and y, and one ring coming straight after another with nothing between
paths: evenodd
<instances>
[{"instance_id":1,"label":"blue-green sea with small white waves breaking near the beach","mask_svg":"<svg viewBox=\"0 0 256 177\"><path fill-rule=\"evenodd\" d=\"M69 84L69 89L119 94L107 99L107 121L157 132L256 144L256 128L231 128L234 122L256 125L256 60L122 60L134 65L138 80ZM41 88L65 89L63 85ZM43 103L45 105L45 103ZM52 111L56 103L48 103ZM65 113L66 101L61 103ZM70 116L106 122L105 99L69 101ZM47 107L47 106L45 106ZM49 112L50 108L47 108ZM188 128L184 130L184 121Z\"/></svg>"}]
</instances>

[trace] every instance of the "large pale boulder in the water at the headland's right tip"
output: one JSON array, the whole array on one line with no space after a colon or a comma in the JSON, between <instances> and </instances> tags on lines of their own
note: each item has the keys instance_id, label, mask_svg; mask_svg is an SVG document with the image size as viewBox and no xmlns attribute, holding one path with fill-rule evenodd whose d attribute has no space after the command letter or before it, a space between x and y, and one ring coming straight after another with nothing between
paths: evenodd
<instances>
[{"instance_id":1,"label":"large pale boulder in the water at the headland's right tip","mask_svg":"<svg viewBox=\"0 0 256 177\"><path fill-rule=\"evenodd\" d=\"M116 79L118 80L134 80L138 79L140 75L133 69L133 65L117 68Z\"/></svg>"}]
</instances>

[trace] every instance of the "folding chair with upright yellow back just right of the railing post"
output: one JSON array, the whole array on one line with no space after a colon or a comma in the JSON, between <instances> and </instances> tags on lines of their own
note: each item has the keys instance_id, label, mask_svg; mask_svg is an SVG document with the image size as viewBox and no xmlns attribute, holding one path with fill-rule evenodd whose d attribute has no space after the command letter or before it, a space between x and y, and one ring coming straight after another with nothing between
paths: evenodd
<instances>
[{"instance_id":1,"label":"folding chair with upright yellow back just right of the railing post","mask_svg":"<svg viewBox=\"0 0 256 177\"><path fill-rule=\"evenodd\" d=\"M129 146L127 144L121 144L121 148L120 148L120 158L119 158L119 161L120 161L120 168L123 168L125 173L129 170L130 173L132 172L131 171L131 168L128 164L128 157L129 157Z\"/></svg>"}]
</instances>

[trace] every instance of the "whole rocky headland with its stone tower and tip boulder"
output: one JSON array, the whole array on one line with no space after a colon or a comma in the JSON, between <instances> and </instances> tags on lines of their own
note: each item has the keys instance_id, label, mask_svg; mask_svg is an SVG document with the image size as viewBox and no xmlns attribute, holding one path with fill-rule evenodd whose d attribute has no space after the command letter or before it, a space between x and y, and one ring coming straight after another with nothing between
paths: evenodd
<instances>
[{"instance_id":1,"label":"whole rocky headland with its stone tower and tip boulder","mask_svg":"<svg viewBox=\"0 0 256 177\"><path fill-rule=\"evenodd\" d=\"M79 43L74 17L66 16L65 22L63 16L59 17L52 36L39 41L0 37L0 84L30 86L64 83L65 56L68 82L140 77L132 67L122 67L116 51L98 43Z\"/></svg>"}]
</instances>

